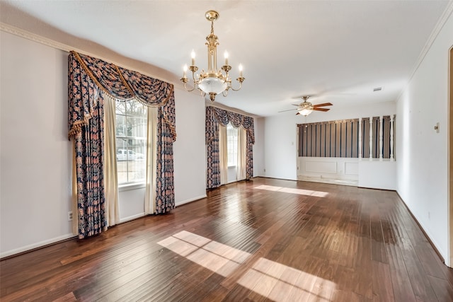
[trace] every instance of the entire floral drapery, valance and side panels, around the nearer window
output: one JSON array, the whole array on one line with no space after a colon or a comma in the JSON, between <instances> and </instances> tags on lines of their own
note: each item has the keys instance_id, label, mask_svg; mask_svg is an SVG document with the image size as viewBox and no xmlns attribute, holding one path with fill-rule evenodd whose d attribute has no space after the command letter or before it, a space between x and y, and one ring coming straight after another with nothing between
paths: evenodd
<instances>
[{"instance_id":1,"label":"entire floral drapery, valance and side panels, around the nearer window","mask_svg":"<svg viewBox=\"0 0 453 302\"><path fill-rule=\"evenodd\" d=\"M159 135L165 139L161 139L161 148L158 148L158 165L160 163L161 169L157 170L156 179L161 182L161 186L156 188L156 208L164 209L158 210L158 213L173 209L174 191L168 189L173 188L173 141L176 141L173 84L77 52L69 54L68 77L69 138L74 137L76 141L78 164L77 202L81 217L79 238L100 233L106 225L103 195L103 102L98 89L117 100L136 99L144 105L159 107ZM81 149L90 149L90 152L81 152ZM93 181L99 186L96 194L91 192ZM103 211L98 211L98 218L93 221L100 223L91 229L96 223L88 222L88 213L93 213L94 207Z\"/></svg>"}]
</instances>

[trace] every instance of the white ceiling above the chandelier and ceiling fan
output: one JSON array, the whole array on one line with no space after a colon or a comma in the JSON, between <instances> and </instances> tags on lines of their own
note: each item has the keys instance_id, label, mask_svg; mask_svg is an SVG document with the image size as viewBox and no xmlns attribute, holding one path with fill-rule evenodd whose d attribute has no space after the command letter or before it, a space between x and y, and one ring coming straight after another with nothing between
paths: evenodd
<instances>
[{"instance_id":1,"label":"white ceiling above the chandelier and ceiling fan","mask_svg":"<svg viewBox=\"0 0 453 302\"><path fill-rule=\"evenodd\" d=\"M270 116L294 108L302 95L312 95L314 104L331 102L332 110L396 100L451 5L437 0L1 0L0 21L151 74L159 70L159 79L180 85L192 50L197 65L206 69L210 23L205 12L214 9L220 14L214 22L219 60L227 50L231 78L238 76L239 63L246 77L241 91L217 96L216 102ZM377 87L383 90L373 93Z\"/></svg>"}]
</instances>

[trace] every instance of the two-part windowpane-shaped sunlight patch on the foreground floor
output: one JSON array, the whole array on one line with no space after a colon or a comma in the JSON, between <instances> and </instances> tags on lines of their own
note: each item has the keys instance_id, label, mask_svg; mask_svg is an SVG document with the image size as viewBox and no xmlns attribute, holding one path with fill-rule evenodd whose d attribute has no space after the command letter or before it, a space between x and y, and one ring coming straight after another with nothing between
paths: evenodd
<instances>
[{"instance_id":1,"label":"two-part windowpane-shaped sunlight patch on the foreground floor","mask_svg":"<svg viewBox=\"0 0 453 302\"><path fill-rule=\"evenodd\" d=\"M188 231L180 231L158 244L223 277L229 277L251 256ZM239 278L238 284L276 302L305 301L309 296L316 301L329 301L336 289L332 281L263 257Z\"/></svg>"}]
</instances>

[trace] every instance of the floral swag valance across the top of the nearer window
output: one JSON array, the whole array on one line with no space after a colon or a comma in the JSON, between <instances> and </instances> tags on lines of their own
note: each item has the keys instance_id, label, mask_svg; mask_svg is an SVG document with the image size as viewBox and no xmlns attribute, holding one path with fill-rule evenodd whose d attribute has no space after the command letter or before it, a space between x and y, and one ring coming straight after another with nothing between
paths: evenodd
<instances>
[{"instance_id":1,"label":"floral swag valance across the top of the nearer window","mask_svg":"<svg viewBox=\"0 0 453 302\"><path fill-rule=\"evenodd\" d=\"M161 107L166 127L173 141L176 140L173 84L74 51L69 53L69 64L70 69L79 71L78 77L69 74L69 94L74 95L69 104L69 137L80 132L81 124L87 124L91 118L95 104L77 97L86 93L81 78L89 78L96 83L97 88L117 100L136 99L147 106Z\"/></svg>"}]
</instances>

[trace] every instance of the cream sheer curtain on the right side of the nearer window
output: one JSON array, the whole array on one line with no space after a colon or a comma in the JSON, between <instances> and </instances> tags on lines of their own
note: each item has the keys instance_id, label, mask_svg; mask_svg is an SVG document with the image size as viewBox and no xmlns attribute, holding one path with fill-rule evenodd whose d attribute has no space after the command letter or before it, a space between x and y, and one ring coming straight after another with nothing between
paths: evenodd
<instances>
[{"instance_id":1,"label":"cream sheer curtain on the right side of the nearer window","mask_svg":"<svg viewBox=\"0 0 453 302\"><path fill-rule=\"evenodd\" d=\"M156 169L157 169L157 115L159 108L148 108L147 122L147 180L144 195L144 213L156 212Z\"/></svg>"}]
</instances>

